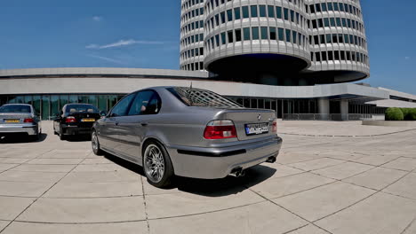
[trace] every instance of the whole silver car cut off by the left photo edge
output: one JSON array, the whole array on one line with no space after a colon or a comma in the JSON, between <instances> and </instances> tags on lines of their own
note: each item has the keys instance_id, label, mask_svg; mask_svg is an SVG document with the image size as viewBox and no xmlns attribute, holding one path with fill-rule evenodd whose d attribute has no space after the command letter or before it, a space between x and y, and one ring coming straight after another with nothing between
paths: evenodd
<instances>
[{"instance_id":1,"label":"whole silver car cut off by the left photo edge","mask_svg":"<svg viewBox=\"0 0 416 234\"><path fill-rule=\"evenodd\" d=\"M7 104L0 107L0 138L24 134L39 139L42 126L35 108L27 104Z\"/></svg>"}]
</instances>

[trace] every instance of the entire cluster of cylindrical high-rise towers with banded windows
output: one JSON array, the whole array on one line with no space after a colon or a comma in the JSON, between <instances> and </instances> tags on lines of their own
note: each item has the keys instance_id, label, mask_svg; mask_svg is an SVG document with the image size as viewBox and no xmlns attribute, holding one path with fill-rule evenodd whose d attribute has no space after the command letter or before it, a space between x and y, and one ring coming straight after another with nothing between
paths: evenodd
<instances>
[{"instance_id":1,"label":"entire cluster of cylindrical high-rise towers with banded windows","mask_svg":"<svg viewBox=\"0 0 416 234\"><path fill-rule=\"evenodd\" d=\"M359 0L182 0L181 11L182 70L290 86L370 75Z\"/></svg>"}]
</instances>

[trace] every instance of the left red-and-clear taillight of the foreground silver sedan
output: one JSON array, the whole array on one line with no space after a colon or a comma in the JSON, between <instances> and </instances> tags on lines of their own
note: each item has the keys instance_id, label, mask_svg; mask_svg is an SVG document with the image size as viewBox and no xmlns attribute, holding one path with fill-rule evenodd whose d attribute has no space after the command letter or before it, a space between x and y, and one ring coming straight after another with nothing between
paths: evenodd
<instances>
[{"instance_id":1,"label":"left red-and-clear taillight of the foreground silver sedan","mask_svg":"<svg viewBox=\"0 0 416 234\"><path fill-rule=\"evenodd\" d=\"M210 121L204 130L204 138L209 140L236 138L233 121Z\"/></svg>"}]
</instances>

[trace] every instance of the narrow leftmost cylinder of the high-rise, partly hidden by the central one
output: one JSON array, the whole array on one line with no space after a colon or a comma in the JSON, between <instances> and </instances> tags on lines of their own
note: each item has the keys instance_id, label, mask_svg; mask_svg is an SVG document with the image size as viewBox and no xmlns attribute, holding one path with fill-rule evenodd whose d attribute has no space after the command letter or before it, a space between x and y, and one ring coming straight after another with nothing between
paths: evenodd
<instances>
[{"instance_id":1,"label":"narrow leftmost cylinder of the high-rise, partly hidden by the central one","mask_svg":"<svg viewBox=\"0 0 416 234\"><path fill-rule=\"evenodd\" d=\"M204 0L181 0L180 70L204 70Z\"/></svg>"}]
</instances>

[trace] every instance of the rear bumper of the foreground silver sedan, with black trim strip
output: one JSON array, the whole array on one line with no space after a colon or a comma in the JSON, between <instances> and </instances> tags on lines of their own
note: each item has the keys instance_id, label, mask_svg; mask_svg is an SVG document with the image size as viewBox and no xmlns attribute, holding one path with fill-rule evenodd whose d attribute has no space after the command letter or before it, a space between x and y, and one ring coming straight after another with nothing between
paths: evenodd
<instances>
[{"instance_id":1,"label":"rear bumper of the foreground silver sedan, with black trim strip","mask_svg":"<svg viewBox=\"0 0 416 234\"><path fill-rule=\"evenodd\" d=\"M283 140L266 141L224 148L167 145L175 175L200 179L224 178L235 168L252 168L277 157Z\"/></svg>"}]
</instances>

